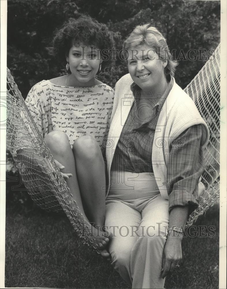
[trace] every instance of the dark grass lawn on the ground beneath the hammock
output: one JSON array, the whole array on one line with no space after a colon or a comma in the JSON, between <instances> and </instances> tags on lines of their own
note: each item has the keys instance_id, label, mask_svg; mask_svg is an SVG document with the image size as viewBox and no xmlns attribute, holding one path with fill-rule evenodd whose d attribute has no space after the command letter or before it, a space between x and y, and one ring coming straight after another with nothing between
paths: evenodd
<instances>
[{"instance_id":1,"label":"dark grass lawn on the ground beneath the hammock","mask_svg":"<svg viewBox=\"0 0 227 289\"><path fill-rule=\"evenodd\" d=\"M214 237L185 237L179 269L165 288L218 288L219 206L196 222ZM195 231L195 230L194 230ZM130 288L111 265L82 245L65 216L6 208L5 287Z\"/></svg>"}]
</instances>

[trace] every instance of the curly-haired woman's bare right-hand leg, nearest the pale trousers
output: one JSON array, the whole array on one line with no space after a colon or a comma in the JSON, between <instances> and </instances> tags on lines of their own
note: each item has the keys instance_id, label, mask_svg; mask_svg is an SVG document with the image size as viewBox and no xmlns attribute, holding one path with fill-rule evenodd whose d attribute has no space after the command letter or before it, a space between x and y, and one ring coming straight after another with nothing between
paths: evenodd
<instances>
[{"instance_id":1,"label":"curly-haired woman's bare right-hand leg, nearest the pale trousers","mask_svg":"<svg viewBox=\"0 0 227 289\"><path fill-rule=\"evenodd\" d=\"M73 145L76 172L87 216L96 226L105 223L105 164L99 145L93 137L82 136Z\"/></svg>"}]
</instances>

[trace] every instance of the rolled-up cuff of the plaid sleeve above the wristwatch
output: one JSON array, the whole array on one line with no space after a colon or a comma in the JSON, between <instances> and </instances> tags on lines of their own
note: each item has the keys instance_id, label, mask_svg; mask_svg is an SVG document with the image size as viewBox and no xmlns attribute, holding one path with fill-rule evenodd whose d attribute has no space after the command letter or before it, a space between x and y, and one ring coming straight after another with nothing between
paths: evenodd
<instances>
[{"instance_id":1,"label":"rolled-up cuff of the plaid sleeve above the wristwatch","mask_svg":"<svg viewBox=\"0 0 227 289\"><path fill-rule=\"evenodd\" d=\"M185 190L173 190L169 194L169 212L175 206L189 206L189 214L191 214L198 207L198 201Z\"/></svg>"}]
</instances>

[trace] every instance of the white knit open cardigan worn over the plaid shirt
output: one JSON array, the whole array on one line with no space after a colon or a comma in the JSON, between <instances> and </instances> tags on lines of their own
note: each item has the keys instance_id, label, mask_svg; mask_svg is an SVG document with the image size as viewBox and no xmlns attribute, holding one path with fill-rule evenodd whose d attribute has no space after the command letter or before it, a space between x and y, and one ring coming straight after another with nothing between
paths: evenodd
<instances>
[{"instance_id":1,"label":"white knit open cardigan worn over the plaid shirt","mask_svg":"<svg viewBox=\"0 0 227 289\"><path fill-rule=\"evenodd\" d=\"M106 143L107 172L110 186L110 168L117 142L127 120L134 96L131 91L133 80L130 74L126 74L115 86L115 96L110 129ZM176 84L173 78L173 87L170 90L157 120L154 141L152 146L152 166L158 188L164 199L168 199L166 188L166 172L169 161L171 143L187 128L192 125L202 124L201 145L204 148L209 142L209 129L200 116L193 100ZM160 181L162 180L162 181ZM108 188L109 188L108 186ZM199 183L199 194L204 190ZM107 190L108 194L108 190Z\"/></svg>"}]
</instances>

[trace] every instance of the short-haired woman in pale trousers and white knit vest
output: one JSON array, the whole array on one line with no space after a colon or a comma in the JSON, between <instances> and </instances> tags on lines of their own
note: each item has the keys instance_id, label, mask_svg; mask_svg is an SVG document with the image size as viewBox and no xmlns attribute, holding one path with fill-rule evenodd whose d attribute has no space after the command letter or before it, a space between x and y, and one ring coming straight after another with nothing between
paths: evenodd
<instances>
[{"instance_id":1,"label":"short-haired woman in pale trousers and white knit vest","mask_svg":"<svg viewBox=\"0 0 227 289\"><path fill-rule=\"evenodd\" d=\"M198 205L209 131L176 84L176 63L150 24L124 42L129 74L116 84L106 143L106 226L112 265L132 288L163 288L179 267L188 214Z\"/></svg>"}]
</instances>

